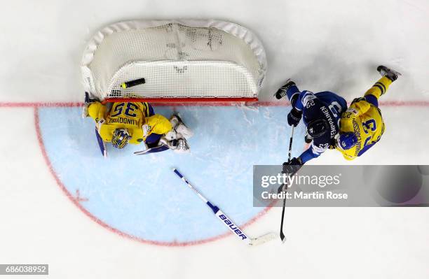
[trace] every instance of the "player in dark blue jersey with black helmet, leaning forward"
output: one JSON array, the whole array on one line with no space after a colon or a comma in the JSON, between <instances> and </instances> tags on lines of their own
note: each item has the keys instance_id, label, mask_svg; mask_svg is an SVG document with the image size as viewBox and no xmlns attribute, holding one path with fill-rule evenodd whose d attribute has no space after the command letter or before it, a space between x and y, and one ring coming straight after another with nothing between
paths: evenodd
<instances>
[{"instance_id":1,"label":"player in dark blue jersey with black helmet, leaning forward","mask_svg":"<svg viewBox=\"0 0 429 279\"><path fill-rule=\"evenodd\" d=\"M306 125L306 143L311 143L310 148L299 157L283 164L285 172L294 173L309 160L319 157L328 148L335 147L341 113L347 110L347 102L329 91L301 92L292 80L287 80L275 96L277 99L287 96L292 105L292 110L287 115L287 123L297 127L302 118Z\"/></svg>"}]
</instances>

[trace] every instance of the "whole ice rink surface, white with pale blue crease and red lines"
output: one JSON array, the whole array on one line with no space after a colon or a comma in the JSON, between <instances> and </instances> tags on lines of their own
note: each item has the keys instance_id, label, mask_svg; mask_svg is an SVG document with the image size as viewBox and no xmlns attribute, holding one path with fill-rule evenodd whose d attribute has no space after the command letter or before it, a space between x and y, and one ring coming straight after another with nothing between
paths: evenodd
<instances>
[{"instance_id":1,"label":"whole ice rink surface, white with pale blue crease and red lines","mask_svg":"<svg viewBox=\"0 0 429 279\"><path fill-rule=\"evenodd\" d=\"M287 208L287 242L248 248L171 173L180 169L250 236L278 231L280 208L252 207L251 176L253 164L287 159L289 107L156 107L182 113L191 154L136 157L134 147L103 159L76 104L81 53L100 27L228 20L266 48L263 101L286 78L351 101L379 78L377 65L402 72L381 97L380 143L353 162L328 151L312 164L428 164L427 1L42 0L13 1L0 15L0 264L50 264L46 278L429 276L427 208ZM302 126L296 134L294 156Z\"/></svg>"}]
</instances>

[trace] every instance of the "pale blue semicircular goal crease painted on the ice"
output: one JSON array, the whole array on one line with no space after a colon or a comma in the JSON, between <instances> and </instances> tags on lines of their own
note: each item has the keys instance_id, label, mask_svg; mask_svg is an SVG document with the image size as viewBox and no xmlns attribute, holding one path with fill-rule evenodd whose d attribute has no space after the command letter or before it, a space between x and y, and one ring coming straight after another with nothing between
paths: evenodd
<instances>
[{"instance_id":1,"label":"pale blue semicircular goal crease painted on the ice","mask_svg":"<svg viewBox=\"0 0 429 279\"><path fill-rule=\"evenodd\" d=\"M289 108L175 109L194 131L189 154L167 151L135 156L132 152L142 146L116 150L108 145L109 157L104 159L95 140L94 123L79 118L79 108L43 108L39 118L55 173L68 192L79 189L88 199L81 206L109 227L161 242L198 241L224 234L226 229L213 222L212 213L177 180L172 167L186 174L237 224L245 224L263 210L252 207L252 166L282 164L286 158ZM170 117L173 109L155 111ZM298 139L294 153L298 155L302 148L303 141Z\"/></svg>"}]
</instances>

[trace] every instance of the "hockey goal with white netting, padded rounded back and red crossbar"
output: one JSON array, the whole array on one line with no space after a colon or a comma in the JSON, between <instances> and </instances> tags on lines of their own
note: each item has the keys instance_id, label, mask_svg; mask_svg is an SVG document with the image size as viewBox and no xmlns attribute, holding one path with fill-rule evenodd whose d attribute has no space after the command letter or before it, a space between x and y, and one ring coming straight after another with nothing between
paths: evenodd
<instances>
[{"instance_id":1,"label":"hockey goal with white netting, padded rounded back and red crossbar","mask_svg":"<svg viewBox=\"0 0 429 279\"><path fill-rule=\"evenodd\" d=\"M266 55L251 31L231 22L135 20L97 31L81 68L86 92L104 103L257 101Z\"/></svg>"}]
</instances>

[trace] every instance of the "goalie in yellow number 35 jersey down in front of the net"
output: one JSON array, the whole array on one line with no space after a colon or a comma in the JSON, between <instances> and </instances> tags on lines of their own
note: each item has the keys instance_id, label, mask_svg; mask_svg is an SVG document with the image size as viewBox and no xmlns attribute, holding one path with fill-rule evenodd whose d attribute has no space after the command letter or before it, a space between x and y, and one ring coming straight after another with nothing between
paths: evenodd
<instances>
[{"instance_id":1,"label":"goalie in yellow number 35 jersey down in front of the net","mask_svg":"<svg viewBox=\"0 0 429 279\"><path fill-rule=\"evenodd\" d=\"M149 103L110 103L105 106L90 99L86 101L83 114L95 120L102 140L115 148L143 142L147 148L152 148L152 152L168 149L189 152L186 138L192 133L179 115L172 115L169 121L163 115L155 114Z\"/></svg>"}]
</instances>

